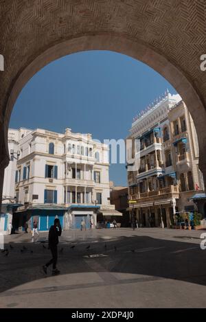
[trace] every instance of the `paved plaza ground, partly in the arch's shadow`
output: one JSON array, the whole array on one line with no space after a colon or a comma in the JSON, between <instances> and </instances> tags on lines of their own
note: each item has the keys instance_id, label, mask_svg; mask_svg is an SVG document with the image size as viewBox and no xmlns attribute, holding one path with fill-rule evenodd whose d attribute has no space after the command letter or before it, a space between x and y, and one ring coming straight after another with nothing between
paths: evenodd
<instances>
[{"instance_id":1,"label":"paved plaza ground, partly in the arch's shadow","mask_svg":"<svg viewBox=\"0 0 206 322\"><path fill-rule=\"evenodd\" d=\"M58 268L48 233L5 236L0 253L0 308L203 308L204 231L130 228L63 231ZM71 246L74 246L71 248ZM89 246L89 248L88 248Z\"/></svg>"}]
</instances>

